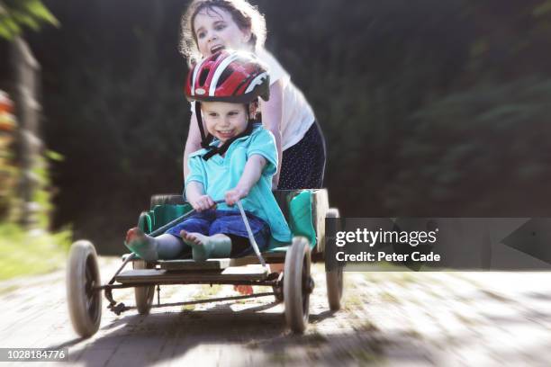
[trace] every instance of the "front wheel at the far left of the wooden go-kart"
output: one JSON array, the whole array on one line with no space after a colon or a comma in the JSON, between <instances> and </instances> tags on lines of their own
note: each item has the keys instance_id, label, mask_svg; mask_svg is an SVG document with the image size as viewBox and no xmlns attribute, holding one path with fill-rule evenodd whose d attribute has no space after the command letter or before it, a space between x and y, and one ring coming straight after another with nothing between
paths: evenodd
<instances>
[{"instance_id":1,"label":"front wheel at the far left of the wooden go-kart","mask_svg":"<svg viewBox=\"0 0 551 367\"><path fill-rule=\"evenodd\" d=\"M68 310L73 328L79 336L93 336L102 319L102 292L94 245L86 240L75 242L70 249L67 267Z\"/></svg>"}]
</instances>

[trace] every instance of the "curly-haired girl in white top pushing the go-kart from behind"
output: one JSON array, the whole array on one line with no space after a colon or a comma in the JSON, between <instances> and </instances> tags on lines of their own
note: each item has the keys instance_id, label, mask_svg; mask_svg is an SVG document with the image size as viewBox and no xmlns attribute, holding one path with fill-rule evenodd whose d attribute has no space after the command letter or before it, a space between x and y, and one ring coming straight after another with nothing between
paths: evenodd
<instances>
[{"instance_id":1,"label":"curly-haired girl in white top pushing the go-kart from behind","mask_svg":"<svg viewBox=\"0 0 551 367\"><path fill-rule=\"evenodd\" d=\"M270 101L260 103L262 122L276 138L281 162L274 188L320 188L325 168L325 143L312 108L289 74L263 48L266 21L257 8L245 0L194 0L182 17L181 51L190 62L208 58L221 49L255 52L270 72ZM196 114L185 144L184 174L189 175L187 159L201 148ZM278 183L278 184L277 184Z\"/></svg>"}]
</instances>

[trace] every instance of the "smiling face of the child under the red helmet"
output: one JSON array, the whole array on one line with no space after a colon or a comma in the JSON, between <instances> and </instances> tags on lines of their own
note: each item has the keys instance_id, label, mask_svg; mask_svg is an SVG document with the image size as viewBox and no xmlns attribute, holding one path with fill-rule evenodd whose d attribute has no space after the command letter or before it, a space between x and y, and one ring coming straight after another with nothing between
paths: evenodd
<instances>
[{"instance_id":1,"label":"smiling face of the child under the red helmet","mask_svg":"<svg viewBox=\"0 0 551 367\"><path fill-rule=\"evenodd\" d=\"M222 143L247 129L247 108L241 103L203 102L203 120L212 136Z\"/></svg>"}]
</instances>

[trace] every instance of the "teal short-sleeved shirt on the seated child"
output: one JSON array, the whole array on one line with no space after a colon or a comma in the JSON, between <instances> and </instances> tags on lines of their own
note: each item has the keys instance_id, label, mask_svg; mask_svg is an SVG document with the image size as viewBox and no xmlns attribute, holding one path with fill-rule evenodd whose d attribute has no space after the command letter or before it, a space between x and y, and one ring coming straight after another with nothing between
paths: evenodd
<instances>
[{"instance_id":1,"label":"teal short-sleeved shirt on the seated child","mask_svg":"<svg viewBox=\"0 0 551 367\"><path fill-rule=\"evenodd\" d=\"M218 146L220 141L214 139L212 145ZM224 199L224 194L233 189L243 174L248 157L259 155L266 159L266 166L258 182L250 189L248 196L241 199L243 208L257 217L264 219L270 226L273 239L280 242L291 242L291 230L276 198L272 193L272 177L277 170L277 150L274 135L256 124L250 135L234 140L224 157L219 154L204 160L206 149L201 149L189 156L189 175L185 185L192 181L203 183L205 194L212 200ZM225 202L218 204L219 210L238 210Z\"/></svg>"}]
</instances>

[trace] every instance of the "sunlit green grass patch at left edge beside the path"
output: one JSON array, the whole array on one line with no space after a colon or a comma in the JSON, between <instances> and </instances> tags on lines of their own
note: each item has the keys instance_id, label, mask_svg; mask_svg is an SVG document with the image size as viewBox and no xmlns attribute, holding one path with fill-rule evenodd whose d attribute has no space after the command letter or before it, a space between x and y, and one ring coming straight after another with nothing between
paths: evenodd
<instances>
[{"instance_id":1,"label":"sunlit green grass patch at left edge beside the path","mask_svg":"<svg viewBox=\"0 0 551 367\"><path fill-rule=\"evenodd\" d=\"M70 233L34 235L14 224L0 223L0 281L58 269L67 258Z\"/></svg>"}]
</instances>

